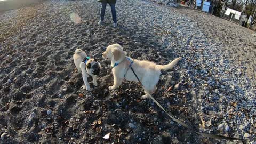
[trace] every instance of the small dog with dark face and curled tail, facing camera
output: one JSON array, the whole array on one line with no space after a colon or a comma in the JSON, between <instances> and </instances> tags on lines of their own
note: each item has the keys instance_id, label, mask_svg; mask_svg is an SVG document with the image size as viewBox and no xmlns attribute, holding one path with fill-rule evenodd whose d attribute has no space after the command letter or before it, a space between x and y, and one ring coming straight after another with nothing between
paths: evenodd
<instances>
[{"instance_id":1,"label":"small dog with dark face and curled tail, facing camera","mask_svg":"<svg viewBox=\"0 0 256 144\"><path fill-rule=\"evenodd\" d=\"M83 81L87 91L91 91L90 85L87 81L89 75L92 76L93 85L97 86L96 77L100 73L101 65L96 59L90 59L87 57L87 54L81 49L76 49L75 54L73 55L74 63L76 65L78 73L82 72ZM89 74L89 75L88 75ZM85 88L84 85L82 88Z\"/></svg>"}]
</instances>

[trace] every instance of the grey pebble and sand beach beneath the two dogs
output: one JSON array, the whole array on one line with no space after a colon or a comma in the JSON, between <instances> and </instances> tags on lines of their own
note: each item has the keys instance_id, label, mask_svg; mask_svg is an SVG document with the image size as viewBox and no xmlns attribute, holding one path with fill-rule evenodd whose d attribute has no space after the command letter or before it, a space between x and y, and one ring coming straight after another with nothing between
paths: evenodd
<instances>
[{"instance_id":1,"label":"grey pebble and sand beach beneath the two dogs","mask_svg":"<svg viewBox=\"0 0 256 144\"><path fill-rule=\"evenodd\" d=\"M100 7L94 0L47 0L0 13L0 143L256 143L255 31L143 0L117 1L113 28L109 5L98 25ZM153 97L197 131L247 139L193 133L141 99L138 83L110 91L110 61L101 53L114 43L159 65L182 57L161 71ZM78 48L102 66L91 92L81 89Z\"/></svg>"}]
</instances>

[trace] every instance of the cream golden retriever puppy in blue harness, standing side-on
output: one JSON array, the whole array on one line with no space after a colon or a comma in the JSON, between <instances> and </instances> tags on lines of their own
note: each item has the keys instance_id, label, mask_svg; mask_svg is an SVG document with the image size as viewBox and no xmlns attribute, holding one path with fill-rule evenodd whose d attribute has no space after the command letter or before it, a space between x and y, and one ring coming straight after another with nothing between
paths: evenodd
<instances>
[{"instance_id":1,"label":"cream golden retriever puppy in blue harness, standing side-on","mask_svg":"<svg viewBox=\"0 0 256 144\"><path fill-rule=\"evenodd\" d=\"M122 46L120 46L119 44L109 45L107 47L107 50L102 53L102 57L104 59L110 59L111 66L113 67L112 72L114 75L114 85L110 86L109 90L117 89L121 85L124 78L128 81L138 82L137 78L135 77L130 68L130 63L132 62L132 59L130 57L126 57L126 52L123 51ZM156 63L153 62L134 59L131 66L139 77L145 89L150 94L153 94L156 90L156 84L159 81L160 71L173 68L179 60L181 60L181 57L173 60L168 65L162 66L156 65ZM146 94L142 96L143 99L149 97L149 94L146 91L145 93Z\"/></svg>"}]
</instances>

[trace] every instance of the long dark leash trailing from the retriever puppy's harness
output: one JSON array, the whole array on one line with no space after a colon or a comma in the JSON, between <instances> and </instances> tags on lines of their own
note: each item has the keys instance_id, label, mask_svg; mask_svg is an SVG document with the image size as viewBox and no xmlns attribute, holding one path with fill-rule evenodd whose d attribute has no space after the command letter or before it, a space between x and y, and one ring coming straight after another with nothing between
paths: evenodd
<instances>
[{"instance_id":1,"label":"long dark leash trailing from the retriever puppy's harness","mask_svg":"<svg viewBox=\"0 0 256 144\"><path fill-rule=\"evenodd\" d=\"M138 78L138 76L136 75L136 73L134 72L132 67L131 67L131 70L132 70L133 74L135 75L135 77L138 79L138 81L141 84L141 86L143 87L143 89L149 94L149 97L156 103L156 105L158 107L160 107L169 117L171 117L173 119L173 121L177 122L178 124L181 124L182 126L186 127L187 129L193 131L196 134L202 135L203 137L209 137L209 138L213 138L213 139L226 139L226 140L244 140L244 139L240 139L240 138L226 137L226 136L223 136L223 135L207 134L207 133L201 133L201 132L195 131L193 128L189 127L187 124L181 122L179 119L177 119L177 118L171 116L169 113L167 113L167 111L160 105L160 103L157 102L152 97L152 95L145 89L145 87L140 82L140 79Z\"/></svg>"}]
</instances>

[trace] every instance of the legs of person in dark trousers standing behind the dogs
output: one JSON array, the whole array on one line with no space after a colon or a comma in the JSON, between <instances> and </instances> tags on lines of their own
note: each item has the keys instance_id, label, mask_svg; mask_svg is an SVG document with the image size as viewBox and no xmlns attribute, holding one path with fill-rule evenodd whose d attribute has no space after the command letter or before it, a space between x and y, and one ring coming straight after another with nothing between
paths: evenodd
<instances>
[{"instance_id":1,"label":"legs of person in dark trousers standing behind the dogs","mask_svg":"<svg viewBox=\"0 0 256 144\"><path fill-rule=\"evenodd\" d=\"M111 7L111 13L112 13L112 18L113 18L113 27L117 26L117 20L116 20L116 0L98 0L101 2L101 12L100 12L100 21L98 22L99 25L101 25L104 21L104 15L105 15L105 10L107 4L110 5Z\"/></svg>"}]
</instances>

